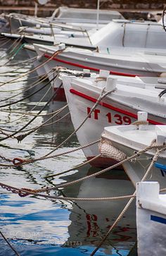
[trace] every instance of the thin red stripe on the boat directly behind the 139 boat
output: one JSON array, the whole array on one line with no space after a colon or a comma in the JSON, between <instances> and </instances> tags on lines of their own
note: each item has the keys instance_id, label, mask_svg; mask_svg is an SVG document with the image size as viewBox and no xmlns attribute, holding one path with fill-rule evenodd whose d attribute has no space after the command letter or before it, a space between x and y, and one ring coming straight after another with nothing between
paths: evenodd
<instances>
[{"instance_id":1,"label":"thin red stripe on the boat directly behind the 139 boat","mask_svg":"<svg viewBox=\"0 0 166 256\"><path fill-rule=\"evenodd\" d=\"M46 58L48 58L48 59L51 59L51 56L49 56L48 54L44 54L44 57L46 57ZM79 64L79 63L72 63L72 62L70 62L70 61L64 61L63 59L53 58L53 61L58 61L58 62L65 63L65 64L68 64L68 65L70 65L70 66L75 66L75 67L78 67L78 68L89 69L89 70L91 70L91 71L96 71L96 72L99 72L99 71L100 71L99 68L92 68L92 67L89 67L89 66L84 66L84 65ZM117 71L110 71L110 74L111 74L111 75L130 76L130 77L143 76L143 75L136 75L136 74L130 74L130 73L122 73L122 72L117 72Z\"/></svg>"}]
</instances>

